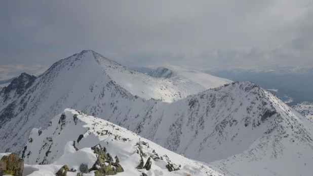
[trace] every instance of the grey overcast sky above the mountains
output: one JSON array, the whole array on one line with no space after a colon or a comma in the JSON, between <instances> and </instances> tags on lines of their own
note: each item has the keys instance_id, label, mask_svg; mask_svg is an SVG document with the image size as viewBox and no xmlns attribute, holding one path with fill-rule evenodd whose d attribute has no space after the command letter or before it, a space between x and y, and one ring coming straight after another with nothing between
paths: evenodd
<instances>
[{"instance_id":1,"label":"grey overcast sky above the mountains","mask_svg":"<svg viewBox=\"0 0 313 176\"><path fill-rule=\"evenodd\" d=\"M85 49L127 66L313 66L313 2L2 1L0 65Z\"/></svg>"}]
</instances>

